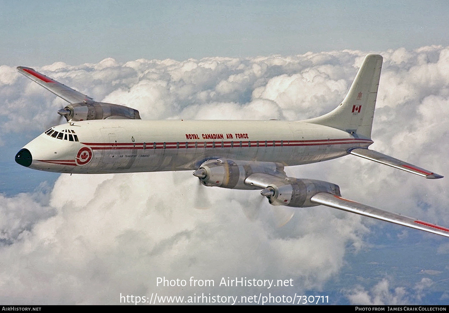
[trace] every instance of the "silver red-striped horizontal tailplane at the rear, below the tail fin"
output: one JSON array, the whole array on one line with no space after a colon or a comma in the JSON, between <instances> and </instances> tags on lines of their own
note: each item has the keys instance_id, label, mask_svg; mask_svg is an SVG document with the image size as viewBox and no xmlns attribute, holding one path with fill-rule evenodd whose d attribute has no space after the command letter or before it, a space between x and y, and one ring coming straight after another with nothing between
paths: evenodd
<instances>
[{"instance_id":1,"label":"silver red-striped horizontal tailplane at the rear, below the tail fin","mask_svg":"<svg viewBox=\"0 0 449 313\"><path fill-rule=\"evenodd\" d=\"M374 151L374 150L369 150L369 149L364 149L364 148L356 148L356 149L350 150L349 153L357 155L357 156L365 158L365 159L369 159L371 161L375 161L375 162L379 162L379 163L382 163L385 165L396 167L396 168L399 168L400 170L414 173L416 175L423 176L426 178L435 179L435 178L443 177L436 173L427 171L421 167L414 166L410 163L392 158L391 156L382 154L382 153Z\"/></svg>"}]
</instances>

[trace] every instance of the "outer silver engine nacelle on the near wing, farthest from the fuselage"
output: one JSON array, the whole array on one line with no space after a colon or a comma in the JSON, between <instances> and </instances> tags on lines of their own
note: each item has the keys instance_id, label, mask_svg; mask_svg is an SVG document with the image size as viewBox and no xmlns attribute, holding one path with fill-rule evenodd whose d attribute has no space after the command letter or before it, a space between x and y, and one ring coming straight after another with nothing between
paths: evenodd
<instances>
[{"instance_id":1,"label":"outer silver engine nacelle on the near wing, farthest from the fuselage","mask_svg":"<svg viewBox=\"0 0 449 313\"><path fill-rule=\"evenodd\" d=\"M293 207L318 206L318 203L310 201L310 198L317 193L332 193L341 196L340 187L336 184L293 177L276 181L261 192L273 206Z\"/></svg>"}]
</instances>

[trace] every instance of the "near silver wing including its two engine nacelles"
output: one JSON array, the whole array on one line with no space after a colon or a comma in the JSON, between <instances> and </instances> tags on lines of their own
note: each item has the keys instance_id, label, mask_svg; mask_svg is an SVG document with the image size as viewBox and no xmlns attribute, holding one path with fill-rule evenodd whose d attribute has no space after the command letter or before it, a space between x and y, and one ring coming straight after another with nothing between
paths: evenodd
<instances>
[{"instance_id":1,"label":"near silver wing including its two engine nacelles","mask_svg":"<svg viewBox=\"0 0 449 313\"><path fill-rule=\"evenodd\" d=\"M280 163L229 159L208 160L194 172L194 176L197 176L206 186L263 189L260 193L267 197L269 203L274 206L299 208L321 204L449 237L448 228L344 199L336 184L321 180L287 177L284 167ZM287 216L285 223L291 216L292 214Z\"/></svg>"}]
</instances>

